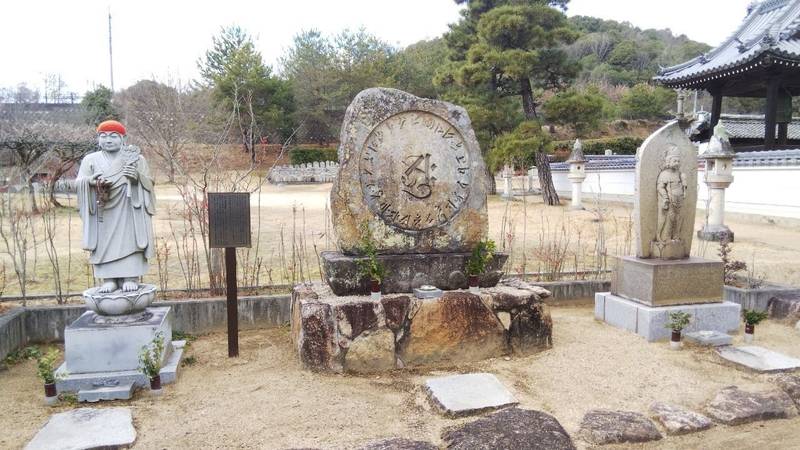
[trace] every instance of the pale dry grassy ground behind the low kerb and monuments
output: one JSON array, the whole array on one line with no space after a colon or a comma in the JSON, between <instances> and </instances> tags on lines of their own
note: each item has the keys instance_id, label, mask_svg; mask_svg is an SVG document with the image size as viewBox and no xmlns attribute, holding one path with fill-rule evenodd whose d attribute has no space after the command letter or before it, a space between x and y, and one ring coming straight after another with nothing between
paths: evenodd
<instances>
[{"instance_id":1,"label":"pale dry grassy ground behind the low kerb and monuments","mask_svg":"<svg viewBox=\"0 0 800 450\"><path fill-rule=\"evenodd\" d=\"M256 261L260 269L257 279L240 280L241 286L291 284L309 277L319 279L317 253L333 250L336 245L328 219L330 189L331 184L267 184L260 193L253 195L253 243L257 247L247 254L240 250L240 269L249 267L253 272ZM166 287L184 288L187 282L181 263L187 258L176 248L182 239L181 230L185 223L181 219L182 199L172 185L158 186L157 197L156 238L171 249L166 261ZM568 203L565 200L561 206L545 207L539 196L518 197L513 202L498 196L489 197L489 237L497 242L499 250L512 253L506 268L508 272L591 272L607 267L607 262L598 259L598 254L627 255L633 251L631 204L595 204L590 201L586 203L586 211L570 211ZM736 233L736 242L732 244L733 258L745 261L755 277L800 285L800 264L793 263L800 259L800 227L785 222L770 223L769 218L761 219L742 216L726 219ZM61 255L60 265L64 279L71 279L65 291L80 292L92 282L86 253L80 250L80 219L74 211L63 210L59 213L59 221L61 232L56 244ZM701 228L702 222L703 214L698 211L695 228ZM294 275L287 270L292 266L292 242L299 249L295 267L302 266L302 270L295 270ZM202 245L202 240L199 245ZM694 255L718 258L717 244L695 239L693 245ZM33 256L29 255L29 264L35 262L36 270L30 272L36 275L29 282L28 292L53 292L53 271L44 250L39 250L37 258ZM19 286L13 269L9 261L3 262L7 267L7 282L2 295L18 295ZM66 276L67 270L69 277ZM200 271L203 286L207 286L202 255ZM155 262L151 264L145 282L163 284Z\"/></svg>"}]
</instances>

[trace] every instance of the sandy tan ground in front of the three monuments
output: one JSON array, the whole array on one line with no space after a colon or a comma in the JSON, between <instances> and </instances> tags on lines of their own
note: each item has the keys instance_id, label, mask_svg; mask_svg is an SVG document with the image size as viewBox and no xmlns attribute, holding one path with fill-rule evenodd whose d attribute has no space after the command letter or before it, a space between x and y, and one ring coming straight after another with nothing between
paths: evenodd
<instances>
[{"instance_id":1,"label":"sandy tan ground in front of the three monuments","mask_svg":"<svg viewBox=\"0 0 800 450\"><path fill-rule=\"evenodd\" d=\"M380 376L325 375L304 371L289 343L288 328L242 331L241 357L227 358L224 333L200 336L186 355L178 382L162 397L141 391L127 402L137 429L135 448L354 448L386 437L442 445L446 427L474 418L436 413L421 386L430 376L491 372L522 408L554 415L577 439L583 414L592 408L646 413L654 401L701 410L722 387L760 390L770 376L723 362L711 350L641 338L596 322L590 307L556 306L554 347L524 358L493 359L450 370L395 371ZM741 335L735 338L738 343ZM759 345L800 358L800 334L767 322L758 326ZM52 413L72 406L43 405L32 361L0 371L0 448L21 448ZM800 417L727 427L626 449L800 449Z\"/></svg>"}]
</instances>

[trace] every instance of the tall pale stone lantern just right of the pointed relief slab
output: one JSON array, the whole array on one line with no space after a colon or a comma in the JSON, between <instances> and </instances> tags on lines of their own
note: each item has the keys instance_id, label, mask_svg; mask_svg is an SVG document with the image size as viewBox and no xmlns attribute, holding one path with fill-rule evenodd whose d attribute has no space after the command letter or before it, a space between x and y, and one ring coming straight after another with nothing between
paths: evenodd
<instances>
[{"instance_id":1,"label":"tall pale stone lantern just right of the pointed relief slab","mask_svg":"<svg viewBox=\"0 0 800 450\"><path fill-rule=\"evenodd\" d=\"M733 182L733 159L736 157L722 124L714 127L714 135L700 159L706 161L705 182L708 186L708 210L706 224L697 232L704 241L733 242L733 232L725 226L725 188Z\"/></svg>"}]
</instances>

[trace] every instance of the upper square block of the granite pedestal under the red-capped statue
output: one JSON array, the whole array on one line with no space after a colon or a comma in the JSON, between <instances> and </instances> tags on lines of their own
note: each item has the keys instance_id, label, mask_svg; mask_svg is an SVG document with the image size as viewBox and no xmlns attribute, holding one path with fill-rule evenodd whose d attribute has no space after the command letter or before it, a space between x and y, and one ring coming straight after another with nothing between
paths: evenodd
<instances>
[{"instance_id":1,"label":"upper square block of the granite pedestal under the red-capped statue","mask_svg":"<svg viewBox=\"0 0 800 450\"><path fill-rule=\"evenodd\" d=\"M158 333L164 336L163 361L172 351L172 310L147 308L144 320L132 323L98 323L94 311L83 313L64 330L64 361L69 373L138 370L139 352Z\"/></svg>"}]
</instances>

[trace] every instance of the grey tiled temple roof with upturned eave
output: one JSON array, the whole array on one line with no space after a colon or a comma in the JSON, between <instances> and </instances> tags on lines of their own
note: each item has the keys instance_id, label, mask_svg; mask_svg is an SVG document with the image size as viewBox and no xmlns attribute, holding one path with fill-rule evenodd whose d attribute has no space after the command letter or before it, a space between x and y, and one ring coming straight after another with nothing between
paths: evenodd
<instances>
[{"instance_id":1,"label":"grey tiled temple roof with upturned eave","mask_svg":"<svg viewBox=\"0 0 800 450\"><path fill-rule=\"evenodd\" d=\"M670 87L698 89L753 69L800 67L800 0L754 2L748 11L739 28L717 48L662 68L653 80Z\"/></svg>"}]
</instances>

